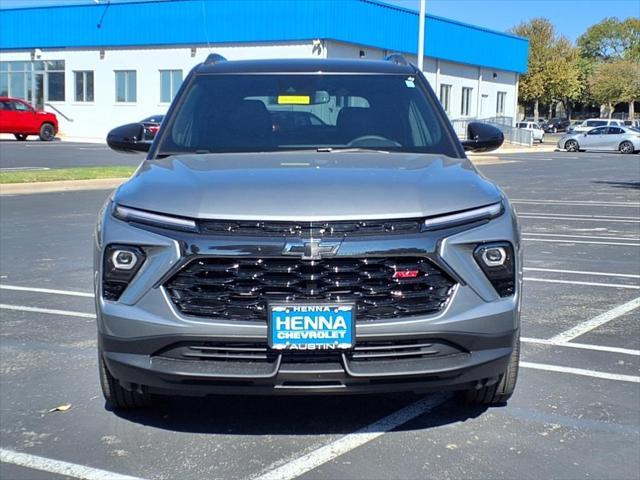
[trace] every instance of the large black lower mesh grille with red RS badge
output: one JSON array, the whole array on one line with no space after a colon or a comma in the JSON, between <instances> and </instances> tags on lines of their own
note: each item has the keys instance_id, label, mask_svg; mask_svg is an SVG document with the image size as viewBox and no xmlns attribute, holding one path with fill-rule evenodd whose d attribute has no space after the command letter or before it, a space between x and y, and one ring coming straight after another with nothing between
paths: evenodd
<instances>
[{"instance_id":1,"label":"large black lower mesh grille with red RS badge","mask_svg":"<svg viewBox=\"0 0 640 480\"><path fill-rule=\"evenodd\" d=\"M415 278L393 278L417 270ZM356 319L398 318L440 311L454 282L423 257L199 258L165 283L186 315L267 321L269 302L353 302Z\"/></svg>"}]
</instances>

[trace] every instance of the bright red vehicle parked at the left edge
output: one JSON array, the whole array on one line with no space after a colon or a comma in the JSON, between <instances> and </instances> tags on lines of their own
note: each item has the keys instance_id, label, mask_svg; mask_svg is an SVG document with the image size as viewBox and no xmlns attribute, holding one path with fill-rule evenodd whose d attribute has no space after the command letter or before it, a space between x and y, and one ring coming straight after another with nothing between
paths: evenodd
<instances>
[{"instance_id":1,"label":"bright red vehicle parked at the left edge","mask_svg":"<svg viewBox=\"0 0 640 480\"><path fill-rule=\"evenodd\" d=\"M58 118L53 113L35 110L18 98L0 97L0 133L13 133L16 140L38 135L48 142L58 133Z\"/></svg>"}]
</instances>

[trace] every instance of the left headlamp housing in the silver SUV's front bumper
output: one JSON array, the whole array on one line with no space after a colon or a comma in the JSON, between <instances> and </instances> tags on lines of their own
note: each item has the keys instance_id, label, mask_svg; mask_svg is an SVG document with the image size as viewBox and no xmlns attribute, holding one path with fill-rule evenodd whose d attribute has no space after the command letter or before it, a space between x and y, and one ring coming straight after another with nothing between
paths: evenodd
<instances>
[{"instance_id":1,"label":"left headlamp housing in the silver SUV's front bumper","mask_svg":"<svg viewBox=\"0 0 640 480\"><path fill-rule=\"evenodd\" d=\"M102 297L105 300L118 300L145 259L146 255L140 247L108 245L103 256Z\"/></svg>"}]
</instances>

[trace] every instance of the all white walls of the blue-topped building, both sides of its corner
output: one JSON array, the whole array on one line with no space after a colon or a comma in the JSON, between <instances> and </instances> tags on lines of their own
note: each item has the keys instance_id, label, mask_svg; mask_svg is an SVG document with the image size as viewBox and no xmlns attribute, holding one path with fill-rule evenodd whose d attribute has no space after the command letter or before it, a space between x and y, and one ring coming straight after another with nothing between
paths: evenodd
<instances>
[{"instance_id":1,"label":"all white walls of the blue-topped building, both sides of its corner","mask_svg":"<svg viewBox=\"0 0 640 480\"><path fill-rule=\"evenodd\" d=\"M381 59L390 51L347 44L331 40L321 42L320 48L312 41L278 44L225 44L197 46L192 56L191 47L45 50L38 60L65 61L65 101L49 102L73 121L58 115L60 134L66 137L83 137L103 140L115 126L141 120L144 117L165 113L168 103L160 101L160 70L182 70L183 78L210 52L229 60L268 58L361 58ZM101 55L104 52L104 55ZM3 52L2 61L29 61L31 51ZM103 58L101 58L101 56ZM407 60L417 63L415 56ZM75 102L74 71L94 72L94 101ZM137 100L135 103L115 101L115 71L137 72ZM503 70L463 65L434 58L425 58L424 73L436 95L440 85L451 88L450 112L452 119L461 115L462 87L472 88L469 117L487 118L496 115L497 92L507 92L505 116L516 117L517 74ZM495 78L494 78L495 74ZM481 76L481 80L479 77ZM51 110L45 107L46 110Z\"/></svg>"}]
</instances>

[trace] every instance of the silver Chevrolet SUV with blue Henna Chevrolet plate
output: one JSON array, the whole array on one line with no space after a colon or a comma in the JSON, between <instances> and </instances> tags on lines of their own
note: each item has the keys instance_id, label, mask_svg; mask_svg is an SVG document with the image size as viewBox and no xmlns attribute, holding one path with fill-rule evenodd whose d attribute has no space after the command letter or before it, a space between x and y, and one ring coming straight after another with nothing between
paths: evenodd
<instances>
[{"instance_id":1,"label":"silver Chevrolet SUV with blue Henna Chevrolet plate","mask_svg":"<svg viewBox=\"0 0 640 480\"><path fill-rule=\"evenodd\" d=\"M105 204L95 242L100 378L155 395L513 393L515 214L425 77L380 61L226 61L185 80Z\"/></svg>"}]
</instances>

